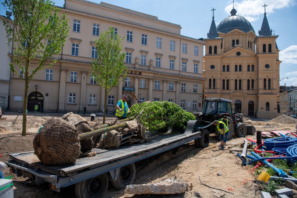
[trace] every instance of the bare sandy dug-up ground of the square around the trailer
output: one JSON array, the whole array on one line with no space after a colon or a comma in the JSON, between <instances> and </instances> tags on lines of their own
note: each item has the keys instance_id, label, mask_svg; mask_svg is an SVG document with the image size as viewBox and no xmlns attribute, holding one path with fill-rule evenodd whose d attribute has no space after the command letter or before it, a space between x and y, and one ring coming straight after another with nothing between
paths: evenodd
<instances>
[{"instance_id":1,"label":"bare sandy dug-up ground of the square around the trailer","mask_svg":"<svg viewBox=\"0 0 297 198\"><path fill-rule=\"evenodd\" d=\"M18 116L19 115L19 116ZM14 122L16 117L17 120ZM52 116L62 117L62 114L41 114L29 113L27 118L27 136L21 136L22 115L6 112L0 120L0 161L8 161L8 154L15 152L33 150L33 138L39 127ZM91 127L102 124L102 117L90 121L89 115L83 115ZM114 117L107 117L106 121L112 121ZM279 116L270 121L252 121L244 118L247 125L254 125L258 131L288 130L296 131L297 119L286 115ZM99 121L99 122L98 122ZM14 122L14 123L13 123ZM256 136L248 136L256 139ZM233 138L227 142L227 149L219 150L219 141L211 135L209 147L196 148L194 142L190 142L166 153L138 161L136 165L136 176L134 184L157 183L158 181L177 178L187 182L192 187L184 194L165 195L151 197L214 197L214 189L220 189L224 197L260 197L259 185L255 184L254 178L249 174L248 169L242 166L242 161L232 151L239 151L244 138ZM218 173L221 173L218 176ZM61 189L61 192L54 192L48 189L48 185L31 186L26 184L25 178L17 177L4 171L4 176L13 175L14 197L18 198L62 198L75 197L74 186ZM204 186L203 184L208 185ZM212 188L211 188L212 187ZM227 192L224 192L224 191ZM232 194L231 194L232 193ZM296 191L294 191L296 195ZM116 190L109 185L106 197L133 197L143 198L146 196L127 195L123 190Z\"/></svg>"}]
</instances>

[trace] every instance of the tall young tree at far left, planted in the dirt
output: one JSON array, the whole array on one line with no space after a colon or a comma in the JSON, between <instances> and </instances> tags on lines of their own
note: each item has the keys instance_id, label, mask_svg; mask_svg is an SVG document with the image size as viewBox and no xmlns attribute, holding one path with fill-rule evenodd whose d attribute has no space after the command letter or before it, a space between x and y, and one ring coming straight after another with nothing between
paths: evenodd
<instances>
[{"instance_id":1,"label":"tall young tree at far left, planted in the dirt","mask_svg":"<svg viewBox=\"0 0 297 198\"><path fill-rule=\"evenodd\" d=\"M39 70L57 62L53 55L61 52L68 37L68 18L65 14L59 16L60 9L50 0L5 0L2 4L13 14L12 22L3 20L9 53L13 53L10 69L25 81L22 129L25 136L29 82ZM37 67L30 68L32 60Z\"/></svg>"}]
</instances>

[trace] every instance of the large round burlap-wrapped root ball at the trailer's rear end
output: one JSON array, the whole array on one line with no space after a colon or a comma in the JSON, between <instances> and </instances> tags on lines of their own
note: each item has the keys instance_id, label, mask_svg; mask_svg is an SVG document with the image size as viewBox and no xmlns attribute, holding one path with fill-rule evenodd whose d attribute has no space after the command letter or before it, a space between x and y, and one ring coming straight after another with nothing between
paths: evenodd
<instances>
[{"instance_id":1,"label":"large round burlap-wrapped root ball at the trailer's rear end","mask_svg":"<svg viewBox=\"0 0 297 198\"><path fill-rule=\"evenodd\" d=\"M45 165L75 164L80 143L75 126L61 118L51 118L33 140L34 153Z\"/></svg>"}]
</instances>

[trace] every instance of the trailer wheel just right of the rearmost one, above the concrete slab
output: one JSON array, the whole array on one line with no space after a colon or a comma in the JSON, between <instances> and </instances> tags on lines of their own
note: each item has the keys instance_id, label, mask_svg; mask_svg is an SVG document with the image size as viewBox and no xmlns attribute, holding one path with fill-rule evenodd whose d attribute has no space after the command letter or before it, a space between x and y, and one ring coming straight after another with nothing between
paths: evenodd
<instances>
[{"instance_id":1,"label":"trailer wheel just right of the rearmost one, above the concrete slab","mask_svg":"<svg viewBox=\"0 0 297 198\"><path fill-rule=\"evenodd\" d=\"M111 184L116 189L124 189L127 185L131 184L135 178L135 165L134 163L120 168L118 179L111 181Z\"/></svg>"}]
</instances>

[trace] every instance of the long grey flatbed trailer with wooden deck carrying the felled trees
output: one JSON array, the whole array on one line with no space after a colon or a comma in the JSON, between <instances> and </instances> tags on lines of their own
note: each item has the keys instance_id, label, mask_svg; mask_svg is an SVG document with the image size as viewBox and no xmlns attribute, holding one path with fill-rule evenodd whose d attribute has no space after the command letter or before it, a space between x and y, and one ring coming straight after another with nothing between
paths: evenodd
<instances>
[{"instance_id":1,"label":"long grey flatbed trailer with wooden deck carrying the felled trees","mask_svg":"<svg viewBox=\"0 0 297 198\"><path fill-rule=\"evenodd\" d=\"M78 198L103 197L108 181L117 189L123 189L133 182L134 162L168 151L193 141L195 146L209 145L209 132L205 129L210 122L190 120L183 133L146 133L146 142L120 146L118 149L94 148L93 157L79 158L75 164L67 166L46 166L34 151L9 154L6 164L17 176L28 177L37 185L48 182L54 191L75 185Z\"/></svg>"}]
</instances>

